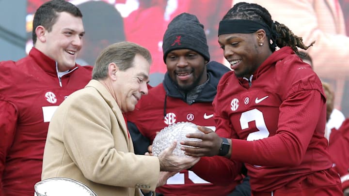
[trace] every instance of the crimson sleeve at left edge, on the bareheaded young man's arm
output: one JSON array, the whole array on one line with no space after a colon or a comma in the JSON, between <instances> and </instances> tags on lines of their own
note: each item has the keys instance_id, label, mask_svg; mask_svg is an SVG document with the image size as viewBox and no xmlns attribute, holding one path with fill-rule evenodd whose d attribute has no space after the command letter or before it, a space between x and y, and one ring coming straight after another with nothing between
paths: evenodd
<instances>
[{"instance_id":1,"label":"crimson sleeve at left edge, on the bareheaded young man's arm","mask_svg":"<svg viewBox=\"0 0 349 196\"><path fill-rule=\"evenodd\" d=\"M6 155L16 132L17 111L10 102L0 96L0 190L2 190L2 175L5 168ZM3 194L0 192L0 196Z\"/></svg>"}]
</instances>

